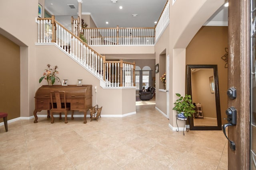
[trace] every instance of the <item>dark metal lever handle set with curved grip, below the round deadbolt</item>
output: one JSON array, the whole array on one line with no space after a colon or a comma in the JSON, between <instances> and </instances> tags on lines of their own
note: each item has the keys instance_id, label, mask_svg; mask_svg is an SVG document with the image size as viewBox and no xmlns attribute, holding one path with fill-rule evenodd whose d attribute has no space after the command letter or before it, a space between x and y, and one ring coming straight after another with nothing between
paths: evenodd
<instances>
[{"instance_id":1,"label":"dark metal lever handle set with curved grip, below the round deadbolt","mask_svg":"<svg viewBox=\"0 0 256 170\"><path fill-rule=\"evenodd\" d=\"M228 139L228 136L226 134L226 127L236 125L236 108L234 107L228 108L226 110L226 115L227 115L226 120L228 121L228 123L222 126L222 131L225 137ZM234 143L234 141L231 141L230 139L228 139L228 141L229 141L229 147L231 148L231 150L236 150L236 144Z\"/></svg>"}]
</instances>

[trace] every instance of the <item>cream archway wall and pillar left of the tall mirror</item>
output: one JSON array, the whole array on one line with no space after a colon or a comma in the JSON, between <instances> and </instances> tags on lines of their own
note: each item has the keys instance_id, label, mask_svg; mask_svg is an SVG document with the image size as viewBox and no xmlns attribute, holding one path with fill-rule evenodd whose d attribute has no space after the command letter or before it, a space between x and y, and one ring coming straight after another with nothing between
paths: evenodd
<instances>
[{"instance_id":1,"label":"cream archway wall and pillar left of the tall mirror","mask_svg":"<svg viewBox=\"0 0 256 170\"><path fill-rule=\"evenodd\" d=\"M186 47L202 25L224 4L225 0L177 0L170 4L169 54L170 54L170 121L176 127L176 111L172 110L177 99L175 93L185 94ZM174 128L175 129L175 128Z\"/></svg>"}]
</instances>

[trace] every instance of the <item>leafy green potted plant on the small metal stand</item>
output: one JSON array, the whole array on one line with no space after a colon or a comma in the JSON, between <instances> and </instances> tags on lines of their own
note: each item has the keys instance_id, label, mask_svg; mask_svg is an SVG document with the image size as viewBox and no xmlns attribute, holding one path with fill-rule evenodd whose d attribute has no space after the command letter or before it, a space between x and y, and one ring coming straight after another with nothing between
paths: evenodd
<instances>
[{"instance_id":1,"label":"leafy green potted plant on the small metal stand","mask_svg":"<svg viewBox=\"0 0 256 170\"><path fill-rule=\"evenodd\" d=\"M194 110L195 106L192 104L190 95L186 94L183 97L180 94L176 93L176 96L178 96L179 98L174 103L175 106L172 109L177 111L178 117L187 118L188 116L191 117L193 113L196 113L196 111Z\"/></svg>"}]
</instances>

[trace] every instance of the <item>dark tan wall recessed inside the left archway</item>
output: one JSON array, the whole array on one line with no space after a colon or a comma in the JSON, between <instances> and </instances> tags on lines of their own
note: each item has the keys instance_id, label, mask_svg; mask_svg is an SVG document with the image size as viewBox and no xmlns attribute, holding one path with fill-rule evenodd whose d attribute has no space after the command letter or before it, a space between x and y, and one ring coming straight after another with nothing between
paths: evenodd
<instances>
[{"instance_id":1,"label":"dark tan wall recessed inside the left archway","mask_svg":"<svg viewBox=\"0 0 256 170\"><path fill-rule=\"evenodd\" d=\"M20 47L1 34L0 47L0 112L10 120L20 117Z\"/></svg>"}]
</instances>

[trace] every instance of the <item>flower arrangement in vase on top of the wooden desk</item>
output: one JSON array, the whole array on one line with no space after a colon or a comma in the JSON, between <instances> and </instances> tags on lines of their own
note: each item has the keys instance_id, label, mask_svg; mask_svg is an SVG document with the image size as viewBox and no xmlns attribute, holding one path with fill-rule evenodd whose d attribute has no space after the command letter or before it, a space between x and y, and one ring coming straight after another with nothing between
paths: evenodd
<instances>
[{"instance_id":1,"label":"flower arrangement in vase on top of the wooden desk","mask_svg":"<svg viewBox=\"0 0 256 170\"><path fill-rule=\"evenodd\" d=\"M54 66L51 68L51 65L47 64L47 68L45 69L43 76L39 79L39 83L41 83L43 79L47 80L49 86L52 86L56 79L58 80L58 82L60 82L60 78L56 76L56 74L59 73L57 71L57 68L58 66Z\"/></svg>"}]
</instances>

